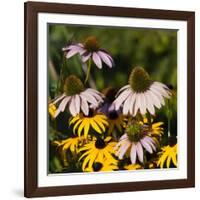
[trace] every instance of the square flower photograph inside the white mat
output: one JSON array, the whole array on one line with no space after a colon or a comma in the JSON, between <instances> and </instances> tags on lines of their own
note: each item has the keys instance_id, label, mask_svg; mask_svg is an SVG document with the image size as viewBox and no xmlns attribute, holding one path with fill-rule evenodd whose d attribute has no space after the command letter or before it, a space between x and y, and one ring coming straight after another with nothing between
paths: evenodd
<instances>
[{"instance_id":1,"label":"square flower photograph inside the white mat","mask_svg":"<svg viewBox=\"0 0 200 200\"><path fill-rule=\"evenodd\" d=\"M177 30L47 26L48 174L178 168Z\"/></svg>"}]
</instances>

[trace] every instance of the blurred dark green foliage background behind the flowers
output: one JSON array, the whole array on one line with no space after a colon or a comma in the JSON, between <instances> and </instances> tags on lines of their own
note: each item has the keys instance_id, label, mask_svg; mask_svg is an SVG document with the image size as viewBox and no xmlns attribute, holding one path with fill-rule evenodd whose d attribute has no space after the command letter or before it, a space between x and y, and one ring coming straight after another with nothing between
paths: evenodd
<instances>
[{"instance_id":1,"label":"blurred dark green foliage background behind the flowers","mask_svg":"<svg viewBox=\"0 0 200 200\"><path fill-rule=\"evenodd\" d=\"M92 66L91 78L98 90L113 86L117 89L126 85L133 67L141 66L150 74L152 80L172 85L174 96L170 100L170 109L165 106L157 110L156 121L165 123L165 138L167 138L167 114L171 115L171 134L177 135L177 32L160 29L136 29L93 26L69 26L49 24L49 98L53 99L61 93L61 79L70 74L77 75L84 81L85 73L78 56L66 60L62 48L71 42L84 42L89 36L95 36L101 48L107 50L113 57L115 67L103 65L99 70ZM94 85L93 85L94 86ZM60 118L65 119L65 113ZM57 119L59 121L62 119ZM65 122L67 122L65 120ZM66 125L59 125L55 130L55 122L49 121L49 139L67 137L69 129ZM57 122L58 123L58 122ZM53 128L54 127L54 128ZM163 140L166 142L166 139ZM51 145L50 145L51 146ZM62 164L55 156L55 150L50 147L49 171L63 171Z\"/></svg>"}]
</instances>

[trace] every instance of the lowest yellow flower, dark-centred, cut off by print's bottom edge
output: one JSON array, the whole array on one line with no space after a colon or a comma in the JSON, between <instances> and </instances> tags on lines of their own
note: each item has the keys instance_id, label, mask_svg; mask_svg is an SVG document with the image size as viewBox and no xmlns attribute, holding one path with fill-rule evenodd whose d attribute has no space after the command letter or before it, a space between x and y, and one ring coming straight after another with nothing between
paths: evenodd
<instances>
[{"instance_id":1,"label":"lowest yellow flower, dark-centred, cut off by print's bottom edge","mask_svg":"<svg viewBox=\"0 0 200 200\"><path fill-rule=\"evenodd\" d=\"M86 168L86 172L104 172L104 171L114 171L117 170L117 160L115 163L110 162L108 159L104 159L103 161L96 160L91 168Z\"/></svg>"}]
</instances>

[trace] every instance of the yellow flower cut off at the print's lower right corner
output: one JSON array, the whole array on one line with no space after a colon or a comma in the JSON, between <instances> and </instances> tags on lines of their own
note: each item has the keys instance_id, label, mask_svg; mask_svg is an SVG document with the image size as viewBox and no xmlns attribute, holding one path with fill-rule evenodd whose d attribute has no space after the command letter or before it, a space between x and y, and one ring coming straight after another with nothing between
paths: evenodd
<instances>
[{"instance_id":1,"label":"yellow flower cut off at the print's lower right corner","mask_svg":"<svg viewBox=\"0 0 200 200\"><path fill-rule=\"evenodd\" d=\"M169 145L161 148L157 166L163 168L166 164L166 167L169 168L171 163L177 167L177 143L174 137L169 138Z\"/></svg>"}]
</instances>

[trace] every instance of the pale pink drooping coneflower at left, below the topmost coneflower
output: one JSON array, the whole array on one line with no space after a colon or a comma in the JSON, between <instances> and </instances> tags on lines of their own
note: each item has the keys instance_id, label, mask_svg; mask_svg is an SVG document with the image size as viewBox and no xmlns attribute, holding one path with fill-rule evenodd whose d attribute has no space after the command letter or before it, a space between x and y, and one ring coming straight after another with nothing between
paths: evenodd
<instances>
[{"instance_id":1,"label":"pale pink drooping coneflower at left, below the topmost coneflower","mask_svg":"<svg viewBox=\"0 0 200 200\"><path fill-rule=\"evenodd\" d=\"M52 102L54 105L60 102L55 117L60 112L63 112L67 105L73 116L76 116L80 112L88 115L90 107L98 107L103 102L102 97L103 95L100 92L92 88L85 89L79 78L70 75L65 80L64 93Z\"/></svg>"}]
</instances>

